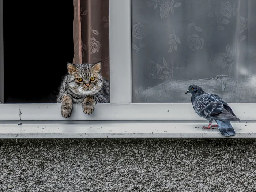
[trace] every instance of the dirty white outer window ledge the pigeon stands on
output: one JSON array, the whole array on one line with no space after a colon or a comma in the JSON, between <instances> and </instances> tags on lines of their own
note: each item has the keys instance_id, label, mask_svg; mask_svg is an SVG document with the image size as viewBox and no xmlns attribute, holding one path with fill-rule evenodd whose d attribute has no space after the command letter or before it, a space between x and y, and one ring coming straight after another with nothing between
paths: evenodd
<instances>
[{"instance_id":1,"label":"dirty white outer window ledge the pigeon stands on","mask_svg":"<svg viewBox=\"0 0 256 192\"><path fill-rule=\"evenodd\" d=\"M229 138L256 138L256 121L232 124ZM203 125L208 121L0 121L0 138L226 138Z\"/></svg>"}]
</instances>

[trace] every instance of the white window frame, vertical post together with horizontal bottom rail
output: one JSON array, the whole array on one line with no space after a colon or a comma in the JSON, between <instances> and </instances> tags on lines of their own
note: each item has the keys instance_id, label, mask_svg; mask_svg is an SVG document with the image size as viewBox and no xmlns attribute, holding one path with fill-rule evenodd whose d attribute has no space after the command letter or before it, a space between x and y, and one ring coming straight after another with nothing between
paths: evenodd
<instances>
[{"instance_id":1,"label":"white window frame, vertical post together with horizontal bottom rail","mask_svg":"<svg viewBox=\"0 0 256 192\"><path fill-rule=\"evenodd\" d=\"M3 3L3 1L0 0L0 3ZM60 104L0 104L0 121L48 121L48 124L54 121L55 123L60 122L60 124L63 124L63 126L67 126L67 123L65 123L65 121L70 121L70 124L74 125L74 121L80 122L81 120L83 122L88 121L88 123L91 122L91 120L102 122L104 120L119 120L125 121L126 125L129 125L129 122L131 122L131 126L133 126L134 120L151 120L151 122L159 122L159 124L154 124L155 127L161 126L161 121L163 122L163 120L169 120L169 123L171 124L172 121L173 123L175 123L177 120L180 120L181 122L201 122L202 120L204 120L202 117L199 117L194 112L191 103L132 103L131 0L109 0L109 22L109 104L97 104L95 106L93 114L91 115L84 114L82 112L81 105L74 105L72 115L68 119L64 119L61 116ZM1 20L0 24L3 24ZM3 25L1 29L2 28ZM0 40L3 39L0 37ZM2 41L1 45L3 45ZM3 55L1 52L0 62L3 62L2 59ZM184 93L186 89L187 88L184 87ZM253 120L256 120L256 103L230 103L230 106L236 113L237 117L239 117L241 121L244 121L244 123L246 123L246 121L250 121L251 123L253 123ZM150 129L148 122L149 121L146 122L146 125ZM205 123L207 124L206 121ZM16 122L14 124L15 126L17 125ZM118 127L119 125L116 126ZM145 127L145 125L143 126ZM179 126L177 125L177 129L178 128ZM17 128L10 129L10 134L12 136L14 136L15 133L15 131L13 130L16 129ZM125 129L128 129L127 126L124 126L123 129L120 130L122 130L122 132L125 132ZM38 133L38 130L35 129L35 132ZM2 134L5 134L6 136L7 133L4 132ZM77 134L81 136L80 133ZM104 134L103 136L108 137L106 133ZM198 134L200 137L201 133L198 132ZM219 134L220 133L218 133L218 135ZM253 134L253 137L256 137L256 131L253 132ZM76 134L74 135L77 136ZM72 136L75 137L74 135ZM131 134L131 137L132 136L133 134ZM148 134L147 136L154 137L153 133L152 135ZM171 137L170 134L169 137Z\"/></svg>"}]
</instances>

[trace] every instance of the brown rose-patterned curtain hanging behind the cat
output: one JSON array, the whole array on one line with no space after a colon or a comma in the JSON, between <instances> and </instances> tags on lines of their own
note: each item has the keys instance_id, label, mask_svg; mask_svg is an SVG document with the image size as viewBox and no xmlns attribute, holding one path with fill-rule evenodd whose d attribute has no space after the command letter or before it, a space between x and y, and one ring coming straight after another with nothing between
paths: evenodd
<instances>
[{"instance_id":1,"label":"brown rose-patterned curtain hanging behind the cat","mask_svg":"<svg viewBox=\"0 0 256 192\"><path fill-rule=\"evenodd\" d=\"M109 80L109 0L73 0L73 64L102 62Z\"/></svg>"}]
</instances>

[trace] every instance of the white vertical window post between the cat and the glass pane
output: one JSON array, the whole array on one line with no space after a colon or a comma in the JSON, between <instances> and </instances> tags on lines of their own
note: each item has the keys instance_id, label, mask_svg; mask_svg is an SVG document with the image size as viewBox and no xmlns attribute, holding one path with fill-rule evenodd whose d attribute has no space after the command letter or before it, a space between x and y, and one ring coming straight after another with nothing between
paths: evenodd
<instances>
[{"instance_id":1,"label":"white vertical window post between the cat and the glass pane","mask_svg":"<svg viewBox=\"0 0 256 192\"><path fill-rule=\"evenodd\" d=\"M109 55L110 103L131 103L131 0L109 0Z\"/></svg>"}]
</instances>

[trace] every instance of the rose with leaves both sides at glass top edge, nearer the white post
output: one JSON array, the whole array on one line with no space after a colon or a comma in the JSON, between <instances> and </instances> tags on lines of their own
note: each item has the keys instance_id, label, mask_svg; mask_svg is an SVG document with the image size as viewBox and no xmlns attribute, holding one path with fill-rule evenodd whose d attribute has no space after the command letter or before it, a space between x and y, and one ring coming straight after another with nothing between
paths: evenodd
<instances>
[{"instance_id":1,"label":"rose with leaves both sides at glass top edge, nearer the white post","mask_svg":"<svg viewBox=\"0 0 256 192\"><path fill-rule=\"evenodd\" d=\"M162 0L165 1L165 0ZM166 18L171 11L172 15L174 14L174 7L180 7L181 3L177 2L174 4L174 0L172 1L165 1L161 3L160 0L148 0L146 1L149 7L154 5L154 9L157 8L158 4L160 5L160 17L161 19Z\"/></svg>"}]
</instances>

